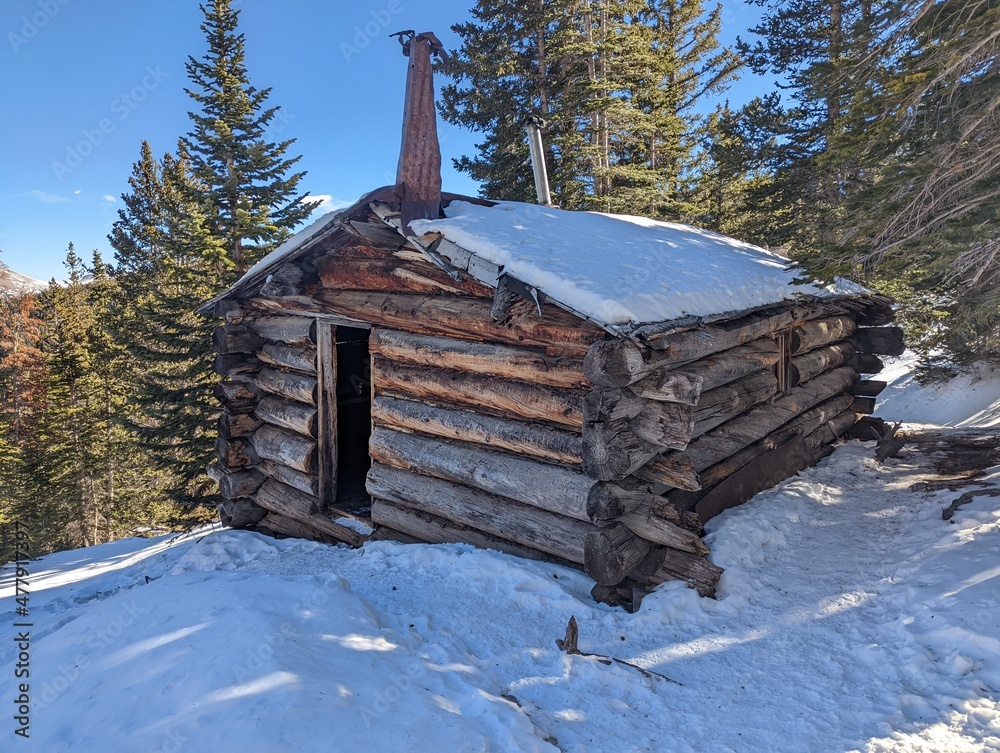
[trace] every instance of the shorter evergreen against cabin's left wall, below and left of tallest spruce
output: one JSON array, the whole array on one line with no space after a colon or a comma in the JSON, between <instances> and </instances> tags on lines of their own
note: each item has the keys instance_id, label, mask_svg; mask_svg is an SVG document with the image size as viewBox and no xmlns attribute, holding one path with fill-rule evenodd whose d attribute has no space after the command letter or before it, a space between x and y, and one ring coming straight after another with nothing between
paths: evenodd
<instances>
[{"instance_id":1,"label":"shorter evergreen against cabin's left wall, below and left of tallest spruce","mask_svg":"<svg viewBox=\"0 0 1000 753\"><path fill-rule=\"evenodd\" d=\"M167 154L150 162L147 152L123 197L110 240L116 249L122 299L118 331L134 374L133 429L149 462L171 480L177 502L210 501L205 469L212 459L218 407L211 397L212 323L195 314L232 272L224 241L212 235L198 186L184 159ZM151 198L155 197L155 201ZM155 204L155 211L150 207Z\"/></svg>"}]
</instances>

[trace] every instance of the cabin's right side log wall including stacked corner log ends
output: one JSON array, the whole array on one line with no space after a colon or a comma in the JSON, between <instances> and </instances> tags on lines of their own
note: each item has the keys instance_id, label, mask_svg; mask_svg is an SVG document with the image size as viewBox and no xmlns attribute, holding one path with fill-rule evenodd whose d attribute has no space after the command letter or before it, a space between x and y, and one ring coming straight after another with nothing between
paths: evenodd
<instances>
[{"instance_id":1,"label":"cabin's right side log wall including stacked corner log ends","mask_svg":"<svg viewBox=\"0 0 1000 753\"><path fill-rule=\"evenodd\" d=\"M812 465L871 412L885 384L862 375L902 351L901 331L881 326L888 306L793 313L590 348L582 467L636 492L591 511L600 533L588 534L585 566L593 559L604 577L595 595L628 602L665 578L711 592L721 571L705 559L704 522Z\"/></svg>"}]
</instances>

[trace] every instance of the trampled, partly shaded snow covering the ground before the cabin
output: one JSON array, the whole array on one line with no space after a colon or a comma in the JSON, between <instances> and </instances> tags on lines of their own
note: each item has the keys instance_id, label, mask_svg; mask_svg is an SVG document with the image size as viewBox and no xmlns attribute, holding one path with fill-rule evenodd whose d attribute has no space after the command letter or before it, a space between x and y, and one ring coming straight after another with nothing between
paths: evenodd
<instances>
[{"instance_id":1,"label":"trampled, partly shaded snow covering the ground before the cabin","mask_svg":"<svg viewBox=\"0 0 1000 753\"><path fill-rule=\"evenodd\" d=\"M711 521L718 600L666 584L634 615L458 545L207 530L52 555L31 565L28 741L0 643L3 750L998 749L1000 500L946 523L961 492L910 492L871 454ZM571 615L584 651L683 684L562 654Z\"/></svg>"}]
</instances>

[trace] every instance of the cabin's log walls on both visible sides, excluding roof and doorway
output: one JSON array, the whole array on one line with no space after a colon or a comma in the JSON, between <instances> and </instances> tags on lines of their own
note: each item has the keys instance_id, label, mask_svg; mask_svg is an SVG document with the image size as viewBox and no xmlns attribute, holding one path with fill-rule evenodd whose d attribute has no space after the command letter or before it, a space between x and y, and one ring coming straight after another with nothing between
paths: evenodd
<instances>
[{"instance_id":1,"label":"cabin's log walls on both visible sides, excluding roof and doorway","mask_svg":"<svg viewBox=\"0 0 1000 753\"><path fill-rule=\"evenodd\" d=\"M875 297L635 339L552 306L494 322L490 289L408 249L342 248L271 285L215 335L225 521L364 541L324 481L322 316L339 317L371 327L373 538L576 567L624 605L672 579L713 594L704 524L829 452L902 347Z\"/></svg>"}]
</instances>

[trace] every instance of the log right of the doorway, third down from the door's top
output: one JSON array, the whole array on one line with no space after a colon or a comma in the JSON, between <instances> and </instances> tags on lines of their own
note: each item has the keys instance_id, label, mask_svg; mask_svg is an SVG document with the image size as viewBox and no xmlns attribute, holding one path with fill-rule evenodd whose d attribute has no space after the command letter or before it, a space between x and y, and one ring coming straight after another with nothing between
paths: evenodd
<instances>
[{"instance_id":1,"label":"log right of the doorway, third down from the door's top","mask_svg":"<svg viewBox=\"0 0 1000 753\"><path fill-rule=\"evenodd\" d=\"M583 457L583 439L575 432L464 410L436 408L394 397L375 398L372 422L375 426L474 442L554 463L579 465Z\"/></svg>"}]
</instances>

